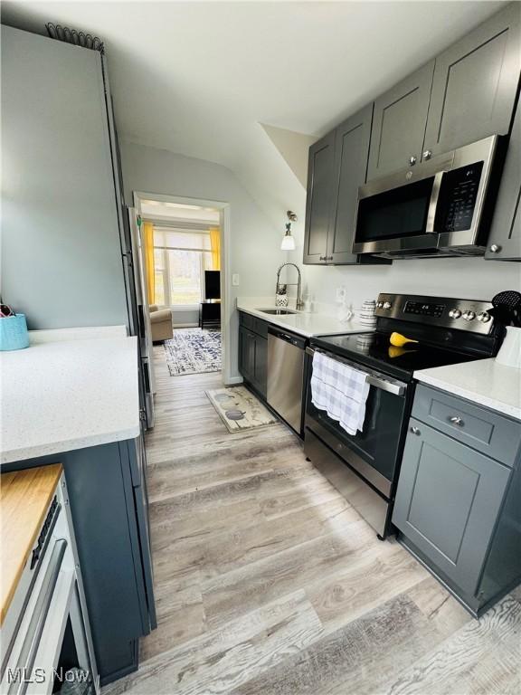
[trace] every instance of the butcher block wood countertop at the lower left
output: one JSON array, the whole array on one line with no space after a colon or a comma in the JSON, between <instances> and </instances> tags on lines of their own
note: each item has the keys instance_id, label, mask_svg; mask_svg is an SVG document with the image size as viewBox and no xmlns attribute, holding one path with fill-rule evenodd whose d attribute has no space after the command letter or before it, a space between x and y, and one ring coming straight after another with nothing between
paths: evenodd
<instances>
[{"instance_id":1,"label":"butcher block wood countertop at the lower left","mask_svg":"<svg viewBox=\"0 0 521 695\"><path fill-rule=\"evenodd\" d=\"M61 463L2 474L0 624L4 623L61 474Z\"/></svg>"}]
</instances>

